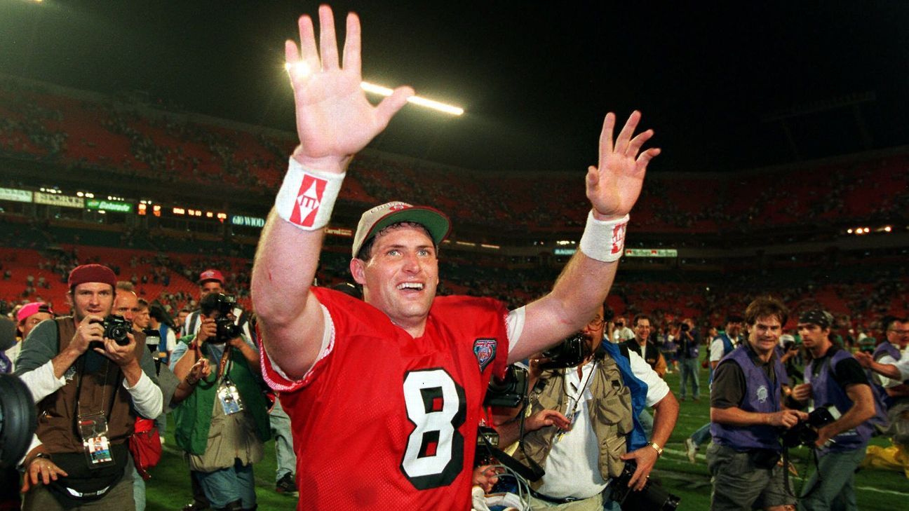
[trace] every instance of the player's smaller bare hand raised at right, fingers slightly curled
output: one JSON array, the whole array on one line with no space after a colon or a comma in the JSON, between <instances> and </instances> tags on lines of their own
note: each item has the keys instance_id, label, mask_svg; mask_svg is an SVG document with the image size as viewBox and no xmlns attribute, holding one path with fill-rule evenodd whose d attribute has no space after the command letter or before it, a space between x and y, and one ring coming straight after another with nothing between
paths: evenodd
<instances>
[{"instance_id":1,"label":"player's smaller bare hand raised at right, fingers slightly curled","mask_svg":"<svg viewBox=\"0 0 909 511\"><path fill-rule=\"evenodd\" d=\"M641 152L641 146L654 135L654 130L634 135L640 120L641 113L632 112L613 140L615 114L606 114L600 133L600 162L587 170L586 179L587 198L594 205L594 216L599 220L621 218L631 211L641 195L647 164L660 154L657 148Z\"/></svg>"}]
</instances>

